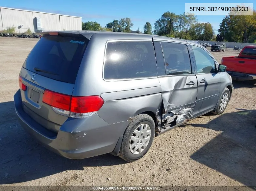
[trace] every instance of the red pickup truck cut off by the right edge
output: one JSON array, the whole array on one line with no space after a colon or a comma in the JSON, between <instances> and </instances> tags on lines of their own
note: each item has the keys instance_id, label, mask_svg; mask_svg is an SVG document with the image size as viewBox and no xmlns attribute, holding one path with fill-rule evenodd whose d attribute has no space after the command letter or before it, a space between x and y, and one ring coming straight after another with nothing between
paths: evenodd
<instances>
[{"instance_id":1,"label":"red pickup truck cut off by the right edge","mask_svg":"<svg viewBox=\"0 0 256 191\"><path fill-rule=\"evenodd\" d=\"M256 46L245 46L238 56L223 57L221 64L233 80L253 80L256 83Z\"/></svg>"}]
</instances>

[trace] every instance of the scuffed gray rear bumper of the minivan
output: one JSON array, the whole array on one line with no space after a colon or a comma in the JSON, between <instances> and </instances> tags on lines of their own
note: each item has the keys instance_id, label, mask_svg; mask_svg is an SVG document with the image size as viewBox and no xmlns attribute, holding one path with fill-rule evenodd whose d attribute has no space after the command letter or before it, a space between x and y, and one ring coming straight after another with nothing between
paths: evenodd
<instances>
[{"instance_id":1,"label":"scuffed gray rear bumper of the minivan","mask_svg":"<svg viewBox=\"0 0 256 191\"><path fill-rule=\"evenodd\" d=\"M85 119L68 118L58 133L35 122L22 108L20 90L14 95L19 123L38 142L70 159L83 159L110 153L123 135L129 121L108 124L97 114Z\"/></svg>"}]
</instances>

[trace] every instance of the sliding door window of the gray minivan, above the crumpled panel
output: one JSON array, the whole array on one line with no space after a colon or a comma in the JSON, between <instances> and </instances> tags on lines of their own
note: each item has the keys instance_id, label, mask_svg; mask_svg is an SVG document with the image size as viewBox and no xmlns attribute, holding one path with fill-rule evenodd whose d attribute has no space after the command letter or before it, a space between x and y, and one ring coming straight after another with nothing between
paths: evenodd
<instances>
[{"instance_id":1,"label":"sliding door window of the gray minivan, above the crumpled panel","mask_svg":"<svg viewBox=\"0 0 256 191\"><path fill-rule=\"evenodd\" d=\"M161 42L166 75L191 74L191 62L185 44Z\"/></svg>"}]
</instances>

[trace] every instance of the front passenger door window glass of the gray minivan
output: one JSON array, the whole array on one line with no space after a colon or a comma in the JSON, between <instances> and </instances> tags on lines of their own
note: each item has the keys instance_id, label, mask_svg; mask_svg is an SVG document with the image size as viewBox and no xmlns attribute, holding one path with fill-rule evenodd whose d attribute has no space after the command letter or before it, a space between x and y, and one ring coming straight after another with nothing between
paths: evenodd
<instances>
[{"instance_id":1,"label":"front passenger door window glass of the gray minivan","mask_svg":"<svg viewBox=\"0 0 256 191\"><path fill-rule=\"evenodd\" d=\"M192 49L194 52L197 73L216 72L214 59L212 59L204 49L193 45Z\"/></svg>"}]
</instances>

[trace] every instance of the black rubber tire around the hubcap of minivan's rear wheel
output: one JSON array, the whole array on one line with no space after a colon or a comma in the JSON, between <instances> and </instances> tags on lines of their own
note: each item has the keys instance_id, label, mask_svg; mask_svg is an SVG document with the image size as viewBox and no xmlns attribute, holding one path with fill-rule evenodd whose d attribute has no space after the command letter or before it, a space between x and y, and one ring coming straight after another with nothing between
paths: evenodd
<instances>
[{"instance_id":1,"label":"black rubber tire around the hubcap of minivan's rear wheel","mask_svg":"<svg viewBox=\"0 0 256 191\"><path fill-rule=\"evenodd\" d=\"M151 130L151 136L150 136L148 145L141 153L132 154L132 152L130 151L131 136L133 135L133 132L135 131L135 129L138 128L138 126L140 126L143 123L147 124ZM125 129L124 137L121 142L121 148L119 151L119 157L127 162L133 162L133 161L136 161L136 160L142 158L148 152L149 148L151 147L154 136L155 136L155 122L152 119L152 117L147 114L140 114L140 115L135 116L131 120L131 123Z\"/></svg>"}]
</instances>

